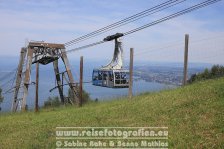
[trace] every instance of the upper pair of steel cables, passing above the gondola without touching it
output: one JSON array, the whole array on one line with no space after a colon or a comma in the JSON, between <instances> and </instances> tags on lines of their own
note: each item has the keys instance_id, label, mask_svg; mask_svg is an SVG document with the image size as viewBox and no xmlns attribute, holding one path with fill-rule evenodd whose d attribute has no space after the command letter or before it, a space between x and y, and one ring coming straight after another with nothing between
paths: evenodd
<instances>
[{"instance_id":1,"label":"upper pair of steel cables, passing above the gondola without touching it","mask_svg":"<svg viewBox=\"0 0 224 149\"><path fill-rule=\"evenodd\" d=\"M125 19L123 19L121 21L115 22L115 23L113 23L111 25L108 25L106 27L103 27L101 29L98 29L96 31L93 31L93 32L91 32L89 34L86 34L84 36L81 36L79 38L76 38L74 40L71 40L71 41L65 43L65 46L71 46L72 44L81 42L83 40L87 40L87 39L92 38L92 37L95 37L97 35L100 35L102 33L105 33L107 31L110 31L112 29L118 28L120 26L126 25L126 24L131 23L131 22L134 22L136 20L139 20L139 19L141 19L143 17L149 16L149 15L152 15L152 14L154 14L156 12L159 12L159 11L162 11L164 9L170 8L170 7L174 6L174 5L177 5L179 3L182 3L184 1L186 1L186 0L169 0L169 1L166 1L166 2L164 2L162 4L159 4L157 6L154 6L154 7L150 8L150 9L147 9L147 10L142 11L140 13L137 13L137 14L135 14L133 16L130 16L128 18L125 18Z\"/></svg>"}]
</instances>

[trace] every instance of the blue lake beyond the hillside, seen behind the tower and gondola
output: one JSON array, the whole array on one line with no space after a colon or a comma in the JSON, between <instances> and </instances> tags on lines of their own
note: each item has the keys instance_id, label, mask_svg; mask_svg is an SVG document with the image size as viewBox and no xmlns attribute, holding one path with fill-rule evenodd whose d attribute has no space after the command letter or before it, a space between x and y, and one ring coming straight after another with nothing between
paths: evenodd
<instances>
[{"instance_id":1,"label":"blue lake beyond the hillside, seen behind the tower and gondola","mask_svg":"<svg viewBox=\"0 0 224 149\"><path fill-rule=\"evenodd\" d=\"M3 60L0 60L3 61ZM104 64L106 62L91 62L91 61L85 61L84 63L84 82L91 81L91 75L92 75L92 70L93 68L98 68L101 66L101 64ZM79 78L79 62L72 62L71 64L71 69L72 73L74 76L74 79L77 81ZM151 64L151 63L150 63ZM150 64L144 64L146 66L149 66ZM137 64L136 64L137 65ZM135 65L135 66L136 66ZM139 64L142 65L142 64ZM151 64L152 65L152 64ZM154 67L157 68L157 65L162 65L164 67L167 66L174 66L174 67L180 67L182 64L179 63L174 63L168 65L168 63L165 64L153 64L155 65ZM193 65L196 66L196 65ZM10 68L10 69L9 69ZM1 62L0 66L0 78L7 74L10 70L13 68L16 68L16 62L13 62L8 66L7 63ZM181 67L180 67L181 68ZM196 66L196 68L204 68L204 66ZM64 71L64 66L59 65L60 72ZM158 69L158 68L157 68ZM171 69L171 68L170 68ZM181 68L182 70L182 68ZM11 74L11 77L13 78L13 73ZM53 96L59 96L58 95L58 90L55 89L52 92L49 92L50 89L56 86L55 84L55 75L53 71L53 66L52 64L49 65L40 65L40 82L39 82L39 105L43 106L44 101L47 100L48 97L53 97ZM35 65L32 65L32 73L31 73L31 81L35 82ZM3 80L0 82L0 85L4 84L7 82L7 80ZM7 91L8 89L12 88L12 82L10 82L6 86L1 86L3 89L3 92ZM154 91L160 91L164 89L170 89L170 88L175 88L174 85L167 85L167 84L161 84L161 83L155 83L155 82L146 82L144 80L135 80L133 82L133 92L135 95L143 93L143 92L154 92ZM67 96L67 90L68 86L64 88L64 95ZM111 88L105 88L105 87L99 87L99 86L93 86L91 83L86 83L84 84L84 90L87 91L90 94L90 97L95 100L96 98L101 101L101 100L111 100L113 98L119 98L122 96L127 96L128 95L128 89L123 88L123 89L111 89ZM9 111L11 108L12 104L12 96L13 94L4 94L4 101L0 105L2 108L2 111ZM20 93L20 97L22 97L22 93ZM30 85L29 86L29 94L27 98L27 104L29 109L33 109L34 107L34 99L35 99L35 86Z\"/></svg>"}]
</instances>

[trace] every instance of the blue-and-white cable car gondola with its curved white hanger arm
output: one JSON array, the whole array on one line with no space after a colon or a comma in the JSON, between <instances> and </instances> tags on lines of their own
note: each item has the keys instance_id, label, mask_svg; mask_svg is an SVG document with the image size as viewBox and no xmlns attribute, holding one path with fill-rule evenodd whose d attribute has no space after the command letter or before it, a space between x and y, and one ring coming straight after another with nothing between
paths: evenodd
<instances>
[{"instance_id":1,"label":"blue-and-white cable car gondola with its curved white hanger arm","mask_svg":"<svg viewBox=\"0 0 224 149\"><path fill-rule=\"evenodd\" d=\"M93 70L93 85L109 88L129 87L129 71L123 68L122 36L122 33L116 33L104 38L104 41L115 41L114 54L109 64Z\"/></svg>"}]
</instances>

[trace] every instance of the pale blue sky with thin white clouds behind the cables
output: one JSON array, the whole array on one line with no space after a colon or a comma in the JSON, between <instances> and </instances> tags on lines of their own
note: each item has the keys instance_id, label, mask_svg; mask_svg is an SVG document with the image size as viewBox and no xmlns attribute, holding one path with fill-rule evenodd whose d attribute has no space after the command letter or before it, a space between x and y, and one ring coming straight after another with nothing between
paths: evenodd
<instances>
[{"instance_id":1,"label":"pale blue sky with thin white clouds behind the cables","mask_svg":"<svg viewBox=\"0 0 224 149\"><path fill-rule=\"evenodd\" d=\"M27 41L65 43L81 35L153 7L166 0L0 0L0 56L18 56ZM204 0L181 5L109 31L75 48L116 32L126 32ZM125 58L135 48L136 60L182 61L184 34L190 34L190 61L222 63L224 1L150 27L123 39ZM214 37L214 38L213 38ZM211 38L212 40L205 40ZM200 39L203 39L200 41ZM194 41L194 42L193 42ZM170 46L172 45L172 46ZM110 59L113 42L69 54L78 59ZM168 48L164 48L168 47ZM158 52L150 52L151 50ZM138 56L137 56L138 55Z\"/></svg>"}]
</instances>

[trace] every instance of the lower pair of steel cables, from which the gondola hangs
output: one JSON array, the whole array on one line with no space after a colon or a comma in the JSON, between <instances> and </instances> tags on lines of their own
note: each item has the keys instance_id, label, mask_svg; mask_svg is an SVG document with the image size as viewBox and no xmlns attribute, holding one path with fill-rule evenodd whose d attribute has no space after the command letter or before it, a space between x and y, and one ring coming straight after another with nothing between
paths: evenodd
<instances>
[{"instance_id":1,"label":"lower pair of steel cables, from which the gondola hangs","mask_svg":"<svg viewBox=\"0 0 224 149\"><path fill-rule=\"evenodd\" d=\"M163 17L163 18L161 18L161 19L159 19L159 20L150 22L150 23L145 24L145 25L143 25L143 26L141 26L141 27L138 27L138 28L135 28L135 29L130 30L130 31L128 31L128 32L125 32L125 33L124 33L124 36L127 36L127 35L129 35L129 34L132 34L132 33L135 33L135 32L137 32L137 31L143 30L143 29L145 29L145 28L148 28L148 27L157 25L157 24L159 24L159 23L162 23L162 22L171 20L171 19L176 18L176 17L178 17L178 16L182 16L182 15L184 15L184 14L190 13L190 12L192 12L192 11L194 11L194 10L197 10L197 9L200 9L200 8L203 8L203 7L206 7L206 6L208 6L208 5L214 4L214 3L219 2L219 1L222 1L222 0L207 0L207 1L201 2L201 3L199 3L199 4L193 5L193 6L189 7L189 8L184 9L184 10L181 10L181 11L178 11L178 12L176 12L176 13L174 13L174 14L171 14L171 15L169 15L169 16ZM68 50L68 51L66 51L66 52L78 51L78 50L81 50L81 49L85 49L85 48L89 48L89 47L92 47L92 46L95 46L95 45L102 44L102 43L104 43L104 42L106 42L106 41L95 42L95 43L92 43L92 44L88 44L88 45L85 45L85 46L81 46L81 47L78 47L78 48L75 48L75 49Z\"/></svg>"}]
</instances>

